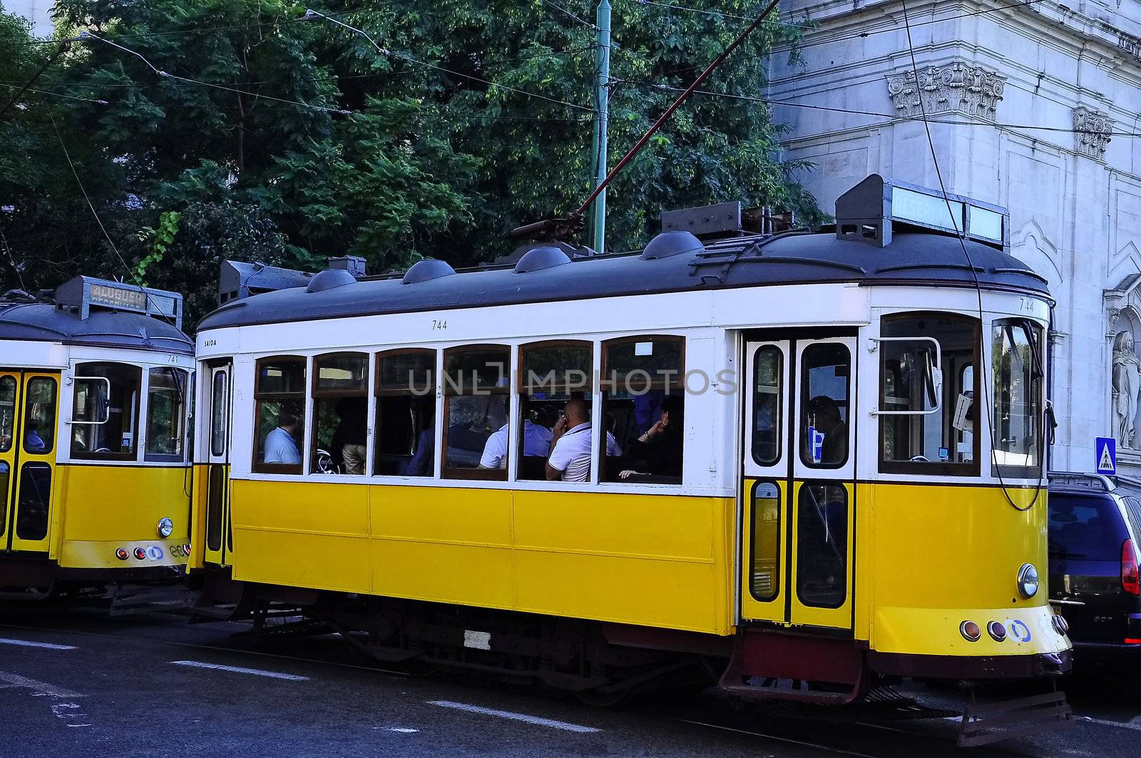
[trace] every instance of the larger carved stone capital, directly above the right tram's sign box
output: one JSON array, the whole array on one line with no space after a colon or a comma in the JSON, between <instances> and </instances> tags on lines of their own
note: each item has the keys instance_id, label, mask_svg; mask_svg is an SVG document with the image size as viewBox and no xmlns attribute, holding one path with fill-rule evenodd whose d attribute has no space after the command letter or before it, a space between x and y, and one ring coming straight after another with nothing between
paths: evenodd
<instances>
[{"instance_id":1,"label":"larger carved stone capital, directly above the right tram's sign box","mask_svg":"<svg viewBox=\"0 0 1141 758\"><path fill-rule=\"evenodd\" d=\"M952 63L888 74L888 95L903 118L917 119L940 113L963 113L994 121L1006 78L982 66Z\"/></svg>"}]
</instances>

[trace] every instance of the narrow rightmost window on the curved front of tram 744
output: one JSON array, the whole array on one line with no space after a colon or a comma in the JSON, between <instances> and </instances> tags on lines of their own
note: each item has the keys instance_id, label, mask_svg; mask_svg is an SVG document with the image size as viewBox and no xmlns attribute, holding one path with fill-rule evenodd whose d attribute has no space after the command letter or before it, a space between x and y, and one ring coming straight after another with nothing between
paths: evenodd
<instances>
[{"instance_id":1,"label":"narrow rightmost window on the curved front of tram 744","mask_svg":"<svg viewBox=\"0 0 1141 758\"><path fill-rule=\"evenodd\" d=\"M1038 476L1042 446L1042 328L1019 318L996 321L994 360L994 460L1004 476Z\"/></svg>"}]
</instances>

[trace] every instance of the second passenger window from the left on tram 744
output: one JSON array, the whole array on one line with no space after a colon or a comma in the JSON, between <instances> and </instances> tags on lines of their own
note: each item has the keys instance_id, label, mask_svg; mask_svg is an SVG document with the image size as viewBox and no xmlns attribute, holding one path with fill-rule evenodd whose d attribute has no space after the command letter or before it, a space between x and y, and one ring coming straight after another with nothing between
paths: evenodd
<instances>
[{"instance_id":1,"label":"second passenger window from the left on tram 744","mask_svg":"<svg viewBox=\"0 0 1141 758\"><path fill-rule=\"evenodd\" d=\"M314 474L364 474L369 437L369 356L318 355L313 360Z\"/></svg>"}]
</instances>

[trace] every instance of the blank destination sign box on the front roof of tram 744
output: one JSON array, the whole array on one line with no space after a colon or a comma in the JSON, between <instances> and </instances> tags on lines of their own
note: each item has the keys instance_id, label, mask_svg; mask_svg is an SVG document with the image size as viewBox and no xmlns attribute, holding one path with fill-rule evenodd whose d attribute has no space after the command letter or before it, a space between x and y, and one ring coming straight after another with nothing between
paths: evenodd
<instances>
[{"instance_id":1,"label":"blank destination sign box on the front roof of tram 744","mask_svg":"<svg viewBox=\"0 0 1141 758\"><path fill-rule=\"evenodd\" d=\"M876 248L893 231L923 229L1009 250L1005 208L873 174L836 199L836 239Z\"/></svg>"}]
</instances>

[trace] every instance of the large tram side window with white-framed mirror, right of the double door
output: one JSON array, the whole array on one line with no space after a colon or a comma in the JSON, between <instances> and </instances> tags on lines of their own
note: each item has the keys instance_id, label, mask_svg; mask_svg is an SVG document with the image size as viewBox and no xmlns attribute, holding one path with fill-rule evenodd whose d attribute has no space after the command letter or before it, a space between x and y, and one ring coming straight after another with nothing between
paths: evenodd
<instances>
[{"instance_id":1,"label":"large tram side window with white-framed mirror, right of the double door","mask_svg":"<svg viewBox=\"0 0 1141 758\"><path fill-rule=\"evenodd\" d=\"M977 474L977 322L912 313L885 317L881 333L880 470Z\"/></svg>"}]
</instances>

